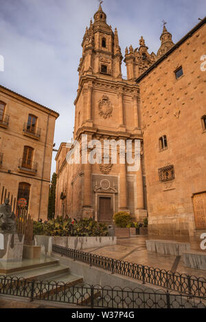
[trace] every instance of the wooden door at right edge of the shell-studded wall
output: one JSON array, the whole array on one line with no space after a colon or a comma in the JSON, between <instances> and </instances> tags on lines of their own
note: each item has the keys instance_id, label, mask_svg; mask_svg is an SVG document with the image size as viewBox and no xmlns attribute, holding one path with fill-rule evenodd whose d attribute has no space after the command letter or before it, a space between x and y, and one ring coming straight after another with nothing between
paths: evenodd
<instances>
[{"instance_id":1,"label":"wooden door at right edge of the shell-studded wall","mask_svg":"<svg viewBox=\"0 0 206 322\"><path fill-rule=\"evenodd\" d=\"M206 193L198 193L193 197L194 220L197 230L206 229Z\"/></svg>"}]
</instances>

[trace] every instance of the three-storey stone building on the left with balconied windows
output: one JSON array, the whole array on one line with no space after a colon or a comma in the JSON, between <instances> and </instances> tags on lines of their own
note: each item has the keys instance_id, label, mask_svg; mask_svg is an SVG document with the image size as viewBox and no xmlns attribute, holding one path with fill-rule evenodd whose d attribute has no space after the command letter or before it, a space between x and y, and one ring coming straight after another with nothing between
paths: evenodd
<instances>
[{"instance_id":1,"label":"three-storey stone building on the left with balconied windows","mask_svg":"<svg viewBox=\"0 0 206 322\"><path fill-rule=\"evenodd\" d=\"M59 114L0 86L0 202L10 193L34 219L47 219L55 121Z\"/></svg>"}]
</instances>

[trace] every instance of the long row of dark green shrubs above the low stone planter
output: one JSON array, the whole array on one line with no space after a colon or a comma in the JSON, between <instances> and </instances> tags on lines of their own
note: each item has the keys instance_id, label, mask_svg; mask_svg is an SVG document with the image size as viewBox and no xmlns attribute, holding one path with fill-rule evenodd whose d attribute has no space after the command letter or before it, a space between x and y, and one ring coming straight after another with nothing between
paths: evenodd
<instances>
[{"instance_id":1,"label":"long row of dark green shrubs above the low stone planter","mask_svg":"<svg viewBox=\"0 0 206 322\"><path fill-rule=\"evenodd\" d=\"M34 222L34 234L45 236L108 236L108 228L104 223L93 219L80 219L73 221L71 218L49 220L47 223Z\"/></svg>"}]
</instances>

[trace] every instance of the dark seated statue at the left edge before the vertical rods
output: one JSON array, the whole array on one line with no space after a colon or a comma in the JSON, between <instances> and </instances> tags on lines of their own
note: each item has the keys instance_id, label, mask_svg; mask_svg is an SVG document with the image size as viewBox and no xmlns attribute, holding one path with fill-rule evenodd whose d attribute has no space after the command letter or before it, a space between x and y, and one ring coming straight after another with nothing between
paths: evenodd
<instances>
[{"instance_id":1,"label":"dark seated statue at the left edge before the vertical rods","mask_svg":"<svg viewBox=\"0 0 206 322\"><path fill-rule=\"evenodd\" d=\"M6 198L0 205L0 233L16 234L16 219L10 206L10 199Z\"/></svg>"}]
</instances>

